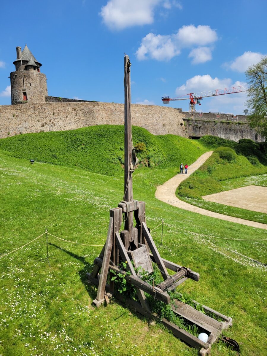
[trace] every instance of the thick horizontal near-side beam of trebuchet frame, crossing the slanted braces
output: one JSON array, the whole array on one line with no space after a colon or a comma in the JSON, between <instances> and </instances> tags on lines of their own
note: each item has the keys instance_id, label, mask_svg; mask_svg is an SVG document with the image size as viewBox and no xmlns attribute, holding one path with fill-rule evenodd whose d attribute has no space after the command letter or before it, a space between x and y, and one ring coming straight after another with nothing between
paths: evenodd
<instances>
[{"instance_id":1,"label":"thick horizontal near-side beam of trebuchet frame, crossing the slanted braces","mask_svg":"<svg viewBox=\"0 0 267 356\"><path fill-rule=\"evenodd\" d=\"M102 265L103 260L101 260L100 258L95 258L94 263L96 265L101 266ZM128 275L126 274L125 271L122 271L121 269L109 265L109 269L112 269L116 274L124 274L125 275L125 279L127 282L131 283L134 287L137 287L141 290L143 290L144 292L153 295L153 297L155 297L155 299L161 300L161 302L165 303L165 304L169 304L171 302L171 298L169 296L169 294L163 292L161 289L155 287L153 290L153 287L148 284L147 282L143 282L140 278L133 276L132 274Z\"/></svg>"}]
</instances>

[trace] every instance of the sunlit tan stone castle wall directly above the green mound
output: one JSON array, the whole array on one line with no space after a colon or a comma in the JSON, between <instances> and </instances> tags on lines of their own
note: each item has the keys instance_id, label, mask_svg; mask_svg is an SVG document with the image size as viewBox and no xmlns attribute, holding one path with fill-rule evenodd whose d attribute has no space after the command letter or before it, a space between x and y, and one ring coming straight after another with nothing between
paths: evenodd
<instances>
[{"instance_id":1,"label":"sunlit tan stone castle wall directly above the green mound","mask_svg":"<svg viewBox=\"0 0 267 356\"><path fill-rule=\"evenodd\" d=\"M154 135L186 136L182 111L155 105L132 105L132 125ZM20 133L65 131L92 125L124 124L124 104L99 102L0 106L0 138Z\"/></svg>"}]
</instances>

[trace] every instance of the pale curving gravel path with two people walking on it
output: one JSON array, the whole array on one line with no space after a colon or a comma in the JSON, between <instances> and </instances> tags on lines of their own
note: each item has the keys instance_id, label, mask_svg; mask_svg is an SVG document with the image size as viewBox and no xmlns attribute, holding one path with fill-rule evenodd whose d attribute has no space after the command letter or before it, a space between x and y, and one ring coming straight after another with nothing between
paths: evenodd
<instances>
[{"instance_id":1,"label":"pale curving gravel path with two people walking on it","mask_svg":"<svg viewBox=\"0 0 267 356\"><path fill-rule=\"evenodd\" d=\"M243 224L243 225L248 225L248 226L253 226L253 227L259 227L261 229L267 230L266 224L257 223L256 221L234 218L233 216L223 215L223 214L219 214L219 213L214 213L213 211L205 210L205 209L199 208L198 206L194 206L194 205L185 203L185 201L179 200L176 197L175 191L176 191L178 185L184 179L186 179L190 174L192 174L196 169L198 169L200 166L202 166L202 164L206 161L206 159L208 159L211 156L212 152L213 151L204 153L204 155L200 156L197 159L197 161L192 163L191 166L188 167L187 175L186 174L177 174L176 176L169 179L164 184L157 187L156 198L161 201L164 201L164 203L167 203L167 204L170 204L173 206L177 206L177 208L193 211L194 213L199 213L202 215L210 216L211 218L232 221L233 223L238 223L238 224Z\"/></svg>"}]
</instances>

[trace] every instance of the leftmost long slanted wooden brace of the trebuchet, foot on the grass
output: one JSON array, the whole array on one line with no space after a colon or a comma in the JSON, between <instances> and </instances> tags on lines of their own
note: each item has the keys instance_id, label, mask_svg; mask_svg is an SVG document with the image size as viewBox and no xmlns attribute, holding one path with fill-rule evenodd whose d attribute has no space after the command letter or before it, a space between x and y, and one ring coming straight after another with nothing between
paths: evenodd
<instances>
[{"instance_id":1,"label":"leftmost long slanted wooden brace of the trebuchet, foot on the grass","mask_svg":"<svg viewBox=\"0 0 267 356\"><path fill-rule=\"evenodd\" d=\"M105 246L105 252L103 257L103 264L102 264L100 278L99 278L98 291L97 291L96 299L93 301L93 303L95 303L96 305L98 305L98 303L96 303L95 301L100 302L100 300L103 300L104 298L106 279L109 271L109 261L110 261L111 250L112 250L112 242L113 242L113 218L110 218L109 231L106 239L106 246Z\"/></svg>"}]
</instances>

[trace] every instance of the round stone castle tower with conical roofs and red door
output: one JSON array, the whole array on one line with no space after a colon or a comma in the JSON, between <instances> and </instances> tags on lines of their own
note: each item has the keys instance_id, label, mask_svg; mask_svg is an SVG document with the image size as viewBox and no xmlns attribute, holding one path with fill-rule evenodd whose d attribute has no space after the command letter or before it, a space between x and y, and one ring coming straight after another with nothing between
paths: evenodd
<instances>
[{"instance_id":1,"label":"round stone castle tower with conical roofs and red door","mask_svg":"<svg viewBox=\"0 0 267 356\"><path fill-rule=\"evenodd\" d=\"M46 75L40 73L42 66L28 49L27 45L21 52L16 47L16 71L10 73L11 104L45 103L47 94Z\"/></svg>"}]
</instances>

